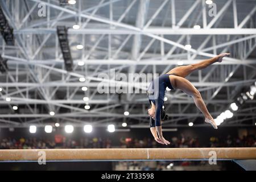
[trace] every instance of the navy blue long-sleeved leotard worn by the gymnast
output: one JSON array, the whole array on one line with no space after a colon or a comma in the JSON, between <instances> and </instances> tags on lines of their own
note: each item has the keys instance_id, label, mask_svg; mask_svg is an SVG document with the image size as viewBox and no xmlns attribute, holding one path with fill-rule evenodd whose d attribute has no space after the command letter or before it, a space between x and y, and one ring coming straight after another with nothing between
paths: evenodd
<instances>
[{"instance_id":1,"label":"navy blue long-sleeved leotard worn by the gymnast","mask_svg":"<svg viewBox=\"0 0 256 182\"><path fill-rule=\"evenodd\" d=\"M153 102L156 107L155 119L150 117L150 127L161 126L161 111L163 109L166 88L168 87L171 90L174 89L170 82L169 75L173 74L164 74L155 78L147 89L148 101L150 102L150 105L151 102Z\"/></svg>"}]
</instances>

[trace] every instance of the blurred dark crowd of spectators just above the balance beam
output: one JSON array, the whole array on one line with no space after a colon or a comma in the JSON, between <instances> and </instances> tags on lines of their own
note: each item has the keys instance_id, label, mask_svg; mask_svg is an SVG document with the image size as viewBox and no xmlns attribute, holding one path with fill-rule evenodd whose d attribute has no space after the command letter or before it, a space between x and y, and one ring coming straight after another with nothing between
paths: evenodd
<instances>
[{"instance_id":1,"label":"blurred dark crowd of spectators just above the balance beam","mask_svg":"<svg viewBox=\"0 0 256 182\"><path fill-rule=\"evenodd\" d=\"M55 135L54 139L40 138L4 138L0 139L0 149L34 149L34 148L155 148L155 147L256 147L256 138L248 135L243 138L234 138L228 135L225 138L211 137L209 142L200 143L198 138L173 137L170 146L158 144L154 139L121 138L113 143L109 138L81 138L80 140Z\"/></svg>"}]
</instances>

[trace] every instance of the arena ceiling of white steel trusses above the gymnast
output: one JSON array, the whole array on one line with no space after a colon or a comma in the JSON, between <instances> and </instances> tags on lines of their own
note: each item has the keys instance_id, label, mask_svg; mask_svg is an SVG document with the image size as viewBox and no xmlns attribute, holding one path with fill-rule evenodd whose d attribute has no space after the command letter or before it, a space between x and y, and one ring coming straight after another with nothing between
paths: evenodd
<instances>
[{"instance_id":1,"label":"arena ceiling of white steel trusses above the gymnast","mask_svg":"<svg viewBox=\"0 0 256 182\"><path fill-rule=\"evenodd\" d=\"M213 3L216 14L210 16L212 7L203 0L86 0L67 6L56 0L1 0L15 37L15 46L7 46L0 37L1 55L8 60L7 71L0 73L1 127L54 122L98 127L126 122L129 127L148 127L146 94L100 94L100 73L162 74L177 64L230 52L222 63L187 77L217 117L254 85L256 2ZM39 16L44 7L45 16ZM73 29L74 24L80 28ZM71 72L64 66L57 26L69 27ZM113 77L104 80L112 81ZM164 106L170 118L164 126L188 126L188 122L209 126L191 97L179 90L167 92L166 97ZM255 99L244 99L221 126L253 126L255 103Z\"/></svg>"}]
</instances>

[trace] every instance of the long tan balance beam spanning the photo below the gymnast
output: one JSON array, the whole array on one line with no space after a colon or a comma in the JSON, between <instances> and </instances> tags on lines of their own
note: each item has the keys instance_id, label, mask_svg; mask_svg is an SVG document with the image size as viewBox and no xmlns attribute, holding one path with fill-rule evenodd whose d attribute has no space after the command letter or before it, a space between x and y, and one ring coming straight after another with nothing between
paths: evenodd
<instances>
[{"instance_id":1,"label":"long tan balance beam spanning the photo below the gymnast","mask_svg":"<svg viewBox=\"0 0 256 182\"><path fill-rule=\"evenodd\" d=\"M42 152L43 151L43 152ZM44 153L45 152L45 153ZM216 153L215 153L216 152ZM114 161L114 160L217 160L256 159L254 148L93 148L0 150L1 162L38 161Z\"/></svg>"}]
</instances>

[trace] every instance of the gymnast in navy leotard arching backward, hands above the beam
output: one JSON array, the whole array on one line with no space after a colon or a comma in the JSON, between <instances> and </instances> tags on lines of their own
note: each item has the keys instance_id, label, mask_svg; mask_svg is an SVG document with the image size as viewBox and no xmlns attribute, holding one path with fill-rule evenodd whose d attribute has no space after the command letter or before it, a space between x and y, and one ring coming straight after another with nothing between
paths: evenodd
<instances>
[{"instance_id":1,"label":"gymnast in navy leotard arching backward, hands above the beam","mask_svg":"<svg viewBox=\"0 0 256 182\"><path fill-rule=\"evenodd\" d=\"M150 116L150 131L156 142L166 145L170 144L168 140L164 139L161 126L161 122L167 118L167 115L163 109L164 94L167 87L171 90L180 89L189 96L192 96L197 108L204 114L205 122L210 123L214 129L217 129L217 125L212 115L210 115L209 111L207 110L200 92L191 84L191 82L185 79L185 77L187 77L193 71L207 68L213 63L221 63L222 58L229 55L230 53L221 53L212 59L204 60L200 63L171 69L171 71L168 73L156 78L158 79L158 82L156 82L158 83L158 86L154 85L155 80L151 82L147 89L147 98L151 105L151 108L148 109L148 115Z\"/></svg>"}]
</instances>

